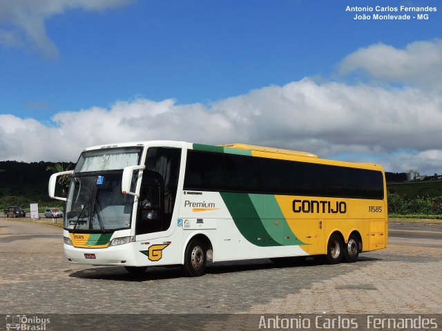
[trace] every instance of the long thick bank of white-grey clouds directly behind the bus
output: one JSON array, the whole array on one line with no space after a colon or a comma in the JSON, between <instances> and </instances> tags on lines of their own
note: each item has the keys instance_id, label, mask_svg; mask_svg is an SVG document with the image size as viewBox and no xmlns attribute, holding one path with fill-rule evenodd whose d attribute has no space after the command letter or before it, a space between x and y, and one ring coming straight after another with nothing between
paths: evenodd
<instances>
[{"instance_id":1,"label":"long thick bank of white-grey clouds directly behind the bus","mask_svg":"<svg viewBox=\"0 0 442 331\"><path fill-rule=\"evenodd\" d=\"M153 139L243 142L330 157L365 155L387 170L442 170L442 97L416 88L385 90L303 79L253 90L206 108L173 100L117 101L61 112L48 127L0 115L0 159L76 161L87 146ZM400 152L407 150L409 152ZM352 157L347 157L352 159Z\"/></svg>"}]
</instances>

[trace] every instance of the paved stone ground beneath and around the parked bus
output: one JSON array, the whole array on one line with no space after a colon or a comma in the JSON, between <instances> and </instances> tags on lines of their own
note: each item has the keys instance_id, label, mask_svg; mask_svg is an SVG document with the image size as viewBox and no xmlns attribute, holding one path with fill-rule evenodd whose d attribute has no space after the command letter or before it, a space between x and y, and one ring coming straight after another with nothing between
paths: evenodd
<instances>
[{"instance_id":1,"label":"paved stone ground beneath and around the parked bus","mask_svg":"<svg viewBox=\"0 0 442 331\"><path fill-rule=\"evenodd\" d=\"M134 277L70 264L61 228L0 218L0 314L441 313L442 226L390 228L389 247L356 263L260 259L210 265L191 279L177 268Z\"/></svg>"}]
</instances>

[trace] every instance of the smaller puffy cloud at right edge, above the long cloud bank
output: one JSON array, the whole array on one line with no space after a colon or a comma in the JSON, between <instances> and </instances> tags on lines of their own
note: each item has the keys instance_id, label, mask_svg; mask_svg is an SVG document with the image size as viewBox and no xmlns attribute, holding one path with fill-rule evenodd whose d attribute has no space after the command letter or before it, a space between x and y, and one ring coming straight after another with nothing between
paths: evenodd
<instances>
[{"instance_id":1,"label":"smaller puffy cloud at right edge, above the long cloud bank","mask_svg":"<svg viewBox=\"0 0 442 331\"><path fill-rule=\"evenodd\" d=\"M339 64L341 74L362 70L372 79L442 89L442 39L415 41L404 49L383 43L361 48Z\"/></svg>"}]
</instances>

